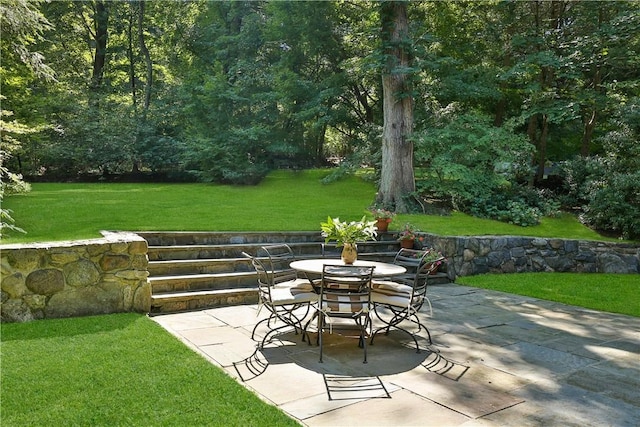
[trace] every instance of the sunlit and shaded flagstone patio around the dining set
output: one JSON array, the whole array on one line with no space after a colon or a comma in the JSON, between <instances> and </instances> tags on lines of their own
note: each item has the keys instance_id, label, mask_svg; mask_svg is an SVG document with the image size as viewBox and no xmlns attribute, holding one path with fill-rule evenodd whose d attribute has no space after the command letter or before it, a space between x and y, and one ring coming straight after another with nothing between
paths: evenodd
<instances>
[{"instance_id":1,"label":"sunlit and shaded flagstone patio around the dining set","mask_svg":"<svg viewBox=\"0 0 640 427\"><path fill-rule=\"evenodd\" d=\"M257 351L256 305L153 319L302 425L640 426L639 318L455 284L429 297L433 344L380 334L367 364L336 331L324 363L315 333Z\"/></svg>"}]
</instances>

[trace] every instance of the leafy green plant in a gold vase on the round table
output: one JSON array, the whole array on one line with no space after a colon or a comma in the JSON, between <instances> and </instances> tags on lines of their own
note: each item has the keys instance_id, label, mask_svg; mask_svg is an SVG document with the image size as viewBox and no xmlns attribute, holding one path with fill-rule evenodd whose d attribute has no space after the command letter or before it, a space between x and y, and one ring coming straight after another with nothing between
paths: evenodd
<instances>
[{"instance_id":1,"label":"leafy green plant in a gold vase on the round table","mask_svg":"<svg viewBox=\"0 0 640 427\"><path fill-rule=\"evenodd\" d=\"M367 221L362 217L360 221L340 221L340 218L327 218L327 222L320 223L325 243L335 241L342 247L342 260L345 264L353 264L358 259L356 242L375 240L377 236L376 222Z\"/></svg>"}]
</instances>

